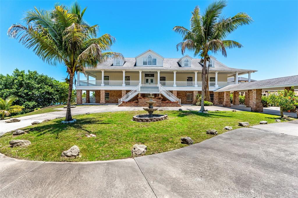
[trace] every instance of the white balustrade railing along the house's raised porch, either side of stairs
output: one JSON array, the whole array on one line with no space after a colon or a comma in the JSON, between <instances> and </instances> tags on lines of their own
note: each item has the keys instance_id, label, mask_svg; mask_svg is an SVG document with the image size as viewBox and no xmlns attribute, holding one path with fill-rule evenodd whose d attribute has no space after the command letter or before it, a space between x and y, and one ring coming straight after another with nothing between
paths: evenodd
<instances>
[{"instance_id":1,"label":"white balustrade railing along the house's raised porch, either side of stairs","mask_svg":"<svg viewBox=\"0 0 298 198\"><path fill-rule=\"evenodd\" d=\"M87 87L136 87L140 81L98 81L98 80L80 80L76 86ZM202 87L201 81L160 81L163 87ZM240 83L240 82L238 82ZM209 87L221 88L235 84L235 82L209 82ZM146 84L145 84L146 85Z\"/></svg>"}]
</instances>

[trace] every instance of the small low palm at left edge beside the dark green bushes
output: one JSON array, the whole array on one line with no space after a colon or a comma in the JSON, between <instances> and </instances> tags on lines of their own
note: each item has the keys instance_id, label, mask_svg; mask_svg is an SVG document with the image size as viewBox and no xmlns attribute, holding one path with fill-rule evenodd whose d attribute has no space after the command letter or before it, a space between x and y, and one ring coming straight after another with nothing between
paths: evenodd
<instances>
[{"instance_id":1,"label":"small low palm at left edge beside the dark green bushes","mask_svg":"<svg viewBox=\"0 0 298 198\"><path fill-rule=\"evenodd\" d=\"M0 98L0 115L1 115L1 120L4 119L4 116L9 116L12 113L18 113L24 109L22 106L14 105L13 101L18 99L17 97L9 96L5 100Z\"/></svg>"}]
</instances>

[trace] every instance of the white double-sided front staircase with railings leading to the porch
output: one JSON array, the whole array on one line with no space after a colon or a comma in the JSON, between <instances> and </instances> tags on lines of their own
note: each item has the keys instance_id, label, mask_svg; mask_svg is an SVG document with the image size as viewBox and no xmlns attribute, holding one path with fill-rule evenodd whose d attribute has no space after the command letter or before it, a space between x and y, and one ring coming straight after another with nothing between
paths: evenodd
<instances>
[{"instance_id":1,"label":"white double-sided front staircase with railings leading to the porch","mask_svg":"<svg viewBox=\"0 0 298 198\"><path fill-rule=\"evenodd\" d=\"M181 100L177 98L174 94L172 94L169 90L165 89L161 84L158 85L141 85L139 84L137 87L132 89L126 95L118 100L119 105L122 102L127 102L134 98L139 93L160 93L168 100L172 102L178 102L181 104Z\"/></svg>"}]
</instances>

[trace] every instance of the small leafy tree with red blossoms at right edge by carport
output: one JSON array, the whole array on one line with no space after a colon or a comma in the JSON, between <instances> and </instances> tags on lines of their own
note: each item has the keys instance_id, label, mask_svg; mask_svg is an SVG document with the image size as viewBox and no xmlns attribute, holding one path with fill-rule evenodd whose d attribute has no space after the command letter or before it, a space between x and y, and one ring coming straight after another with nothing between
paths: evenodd
<instances>
[{"instance_id":1,"label":"small leafy tree with red blossoms at right edge by carport","mask_svg":"<svg viewBox=\"0 0 298 198\"><path fill-rule=\"evenodd\" d=\"M268 101L272 106L280 107L280 117L283 116L283 111L288 111L296 108L295 103L297 102L297 96L295 96L295 92L292 90L283 90L271 93L268 96Z\"/></svg>"}]
</instances>

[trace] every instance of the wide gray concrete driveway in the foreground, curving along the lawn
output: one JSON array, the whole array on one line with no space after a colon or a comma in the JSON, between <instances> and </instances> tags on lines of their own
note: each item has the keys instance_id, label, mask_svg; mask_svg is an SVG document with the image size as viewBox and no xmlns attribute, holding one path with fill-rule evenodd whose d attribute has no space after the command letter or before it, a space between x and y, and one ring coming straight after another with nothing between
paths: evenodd
<instances>
[{"instance_id":1,"label":"wide gray concrete driveway in the foreground, curving along the lawn","mask_svg":"<svg viewBox=\"0 0 298 198\"><path fill-rule=\"evenodd\" d=\"M298 197L298 120L265 126L134 159L39 162L0 154L0 197ZM284 127L296 135L280 133Z\"/></svg>"}]
</instances>

